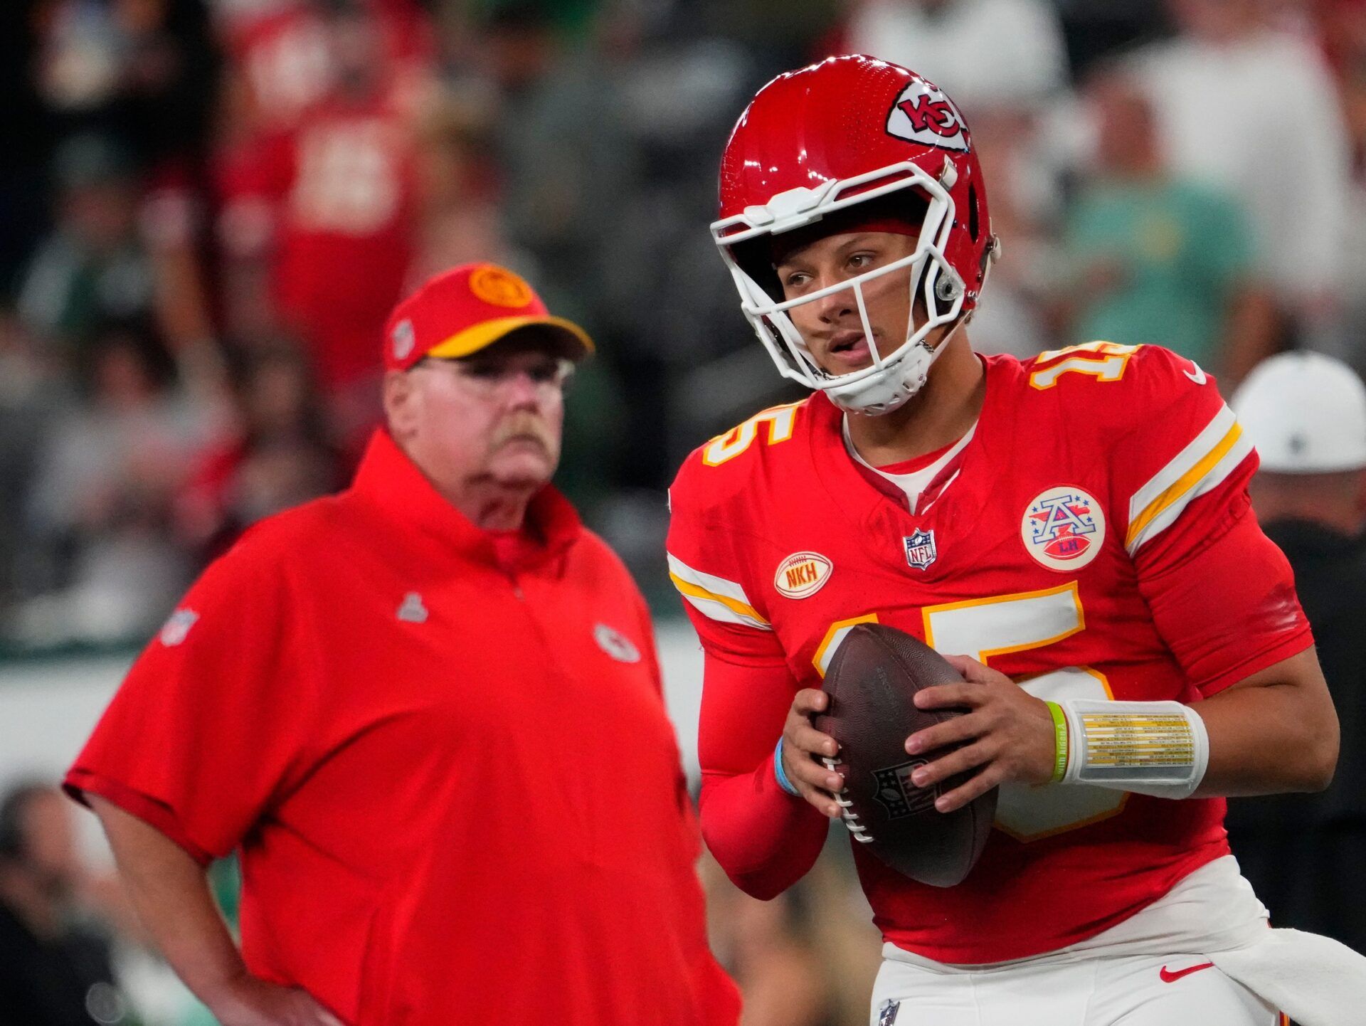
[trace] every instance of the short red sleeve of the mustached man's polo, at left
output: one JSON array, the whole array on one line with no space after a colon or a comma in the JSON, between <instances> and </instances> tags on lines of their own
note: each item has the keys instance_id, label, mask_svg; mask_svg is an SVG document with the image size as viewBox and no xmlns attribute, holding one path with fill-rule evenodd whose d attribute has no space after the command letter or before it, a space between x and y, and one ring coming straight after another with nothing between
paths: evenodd
<instances>
[{"instance_id":1,"label":"short red sleeve of the mustached man's polo, at left","mask_svg":"<svg viewBox=\"0 0 1366 1026\"><path fill-rule=\"evenodd\" d=\"M199 862L228 854L303 773L317 709L275 553L239 544L133 665L67 773Z\"/></svg>"}]
</instances>

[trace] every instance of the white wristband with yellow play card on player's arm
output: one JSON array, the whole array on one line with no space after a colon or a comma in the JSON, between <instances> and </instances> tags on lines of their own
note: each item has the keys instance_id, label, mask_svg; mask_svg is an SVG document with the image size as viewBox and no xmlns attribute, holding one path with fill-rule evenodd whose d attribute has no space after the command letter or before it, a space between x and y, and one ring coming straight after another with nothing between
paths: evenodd
<instances>
[{"instance_id":1,"label":"white wristband with yellow play card on player's arm","mask_svg":"<svg viewBox=\"0 0 1366 1026\"><path fill-rule=\"evenodd\" d=\"M1064 784L1190 798L1209 766L1209 732L1180 702L1057 702L1071 736Z\"/></svg>"}]
</instances>

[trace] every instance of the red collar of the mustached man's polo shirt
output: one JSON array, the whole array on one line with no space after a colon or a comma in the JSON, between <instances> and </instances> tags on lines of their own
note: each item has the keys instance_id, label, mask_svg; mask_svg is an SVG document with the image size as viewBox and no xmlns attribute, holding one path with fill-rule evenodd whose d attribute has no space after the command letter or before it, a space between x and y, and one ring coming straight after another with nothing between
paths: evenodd
<instances>
[{"instance_id":1,"label":"red collar of the mustached man's polo shirt","mask_svg":"<svg viewBox=\"0 0 1366 1026\"><path fill-rule=\"evenodd\" d=\"M417 527L458 555L504 570L527 570L563 553L578 540L583 523L570 501L552 485L527 505L529 540L508 545L505 534L486 531L451 505L382 428L370 436L351 492L389 519Z\"/></svg>"}]
</instances>

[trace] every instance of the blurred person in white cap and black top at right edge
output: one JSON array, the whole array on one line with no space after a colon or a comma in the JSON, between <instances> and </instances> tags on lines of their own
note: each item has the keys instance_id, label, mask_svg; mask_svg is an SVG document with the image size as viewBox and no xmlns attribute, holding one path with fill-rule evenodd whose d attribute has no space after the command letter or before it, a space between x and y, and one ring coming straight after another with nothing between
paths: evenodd
<instances>
[{"instance_id":1,"label":"blurred person in white cap and black top at right edge","mask_svg":"<svg viewBox=\"0 0 1366 1026\"><path fill-rule=\"evenodd\" d=\"M1341 757L1320 794L1229 799L1229 842L1273 925L1366 951L1366 387L1339 361L1290 352L1232 406L1262 459L1253 508L1295 570Z\"/></svg>"}]
</instances>

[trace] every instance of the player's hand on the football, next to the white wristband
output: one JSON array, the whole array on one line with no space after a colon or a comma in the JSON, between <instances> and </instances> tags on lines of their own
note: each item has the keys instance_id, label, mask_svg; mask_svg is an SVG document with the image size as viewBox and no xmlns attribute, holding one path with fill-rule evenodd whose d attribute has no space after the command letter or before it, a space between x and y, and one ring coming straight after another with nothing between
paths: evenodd
<instances>
[{"instance_id":1,"label":"player's hand on the football, next to the white wristband","mask_svg":"<svg viewBox=\"0 0 1366 1026\"><path fill-rule=\"evenodd\" d=\"M917 787L930 787L958 773L971 779L940 795L934 807L953 812L997 784L1046 784L1053 776L1055 734L1048 705L1004 674L967 656L945 656L963 675L962 684L940 684L917 693L919 709L968 709L963 716L917 731L906 739L912 755L962 745L911 773Z\"/></svg>"}]
</instances>

